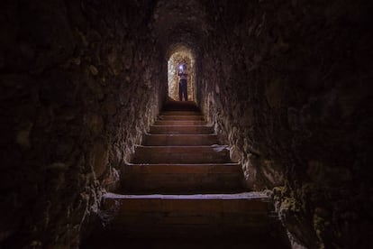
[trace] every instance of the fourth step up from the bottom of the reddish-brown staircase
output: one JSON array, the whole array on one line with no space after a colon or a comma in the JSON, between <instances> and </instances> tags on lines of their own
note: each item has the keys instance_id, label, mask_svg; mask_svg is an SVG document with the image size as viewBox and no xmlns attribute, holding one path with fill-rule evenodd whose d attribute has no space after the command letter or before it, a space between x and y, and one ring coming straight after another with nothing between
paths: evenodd
<instances>
[{"instance_id":1,"label":"fourth step up from the bottom of the reddish-brown staircase","mask_svg":"<svg viewBox=\"0 0 373 249\"><path fill-rule=\"evenodd\" d=\"M196 146L218 144L216 134L144 134L143 145L152 146Z\"/></svg>"}]
</instances>

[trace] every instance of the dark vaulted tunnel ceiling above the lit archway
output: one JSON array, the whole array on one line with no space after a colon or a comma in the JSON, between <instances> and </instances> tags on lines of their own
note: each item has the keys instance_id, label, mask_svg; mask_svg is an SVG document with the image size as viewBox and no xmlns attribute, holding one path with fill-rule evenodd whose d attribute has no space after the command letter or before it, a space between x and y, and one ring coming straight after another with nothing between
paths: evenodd
<instances>
[{"instance_id":1,"label":"dark vaulted tunnel ceiling above the lit archway","mask_svg":"<svg viewBox=\"0 0 373 249\"><path fill-rule=\"evenodd\" d=\"M154 35L164 52L178 44L197 50L200 39L209 31L205 7L195 0L160 0L154 10Z\"/></svg>"}]
</instances>

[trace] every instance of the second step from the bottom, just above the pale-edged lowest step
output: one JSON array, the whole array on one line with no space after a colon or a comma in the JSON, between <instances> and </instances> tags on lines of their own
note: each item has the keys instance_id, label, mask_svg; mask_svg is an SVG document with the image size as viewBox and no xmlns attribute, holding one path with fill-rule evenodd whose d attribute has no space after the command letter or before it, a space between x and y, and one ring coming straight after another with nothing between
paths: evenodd
<instances>
[{"instance_id":1,"label":"second step from the bottom, just above the pale-edged lowest step","mask_svg":"<svg viewBox=\"0 0 373 249\"><path fill-rule=\"evenodd\" d=\"M243 191L241 166L237 163L131 164L123 167L122 176L126 193Z\"/></svg>"}]
</instances>

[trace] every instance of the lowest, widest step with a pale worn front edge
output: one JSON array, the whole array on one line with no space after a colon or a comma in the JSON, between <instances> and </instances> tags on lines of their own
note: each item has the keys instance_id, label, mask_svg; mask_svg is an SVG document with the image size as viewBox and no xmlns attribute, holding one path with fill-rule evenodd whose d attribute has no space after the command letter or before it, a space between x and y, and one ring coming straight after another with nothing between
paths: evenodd
<instances>
[{"instance_id":1,"label":"lowest, widest step with a pale worn front edge","mask_svg":"<svg viewBox=\"0 0 373 249\"><path fill-rule=\"evenodd\" d=\"M104 196L106 227L123 236L206 237L264 234L270 205L262 193Z\"/></svg>"}]
</instances>

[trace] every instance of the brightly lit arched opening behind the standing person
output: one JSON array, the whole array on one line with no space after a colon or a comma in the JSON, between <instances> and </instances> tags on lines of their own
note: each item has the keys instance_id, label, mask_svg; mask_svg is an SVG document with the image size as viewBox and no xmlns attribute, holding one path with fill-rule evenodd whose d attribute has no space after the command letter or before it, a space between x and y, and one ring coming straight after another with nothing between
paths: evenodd
<instances>
[{"instance_id":1,"label":"brightly lit arched opening behind the standing person","mask_svg":"<svg viewBox=\"0 0 373 249\"><path fill-rule=\"evenodd\" d=\"M168 53L168 97L179 100L178 67L187 69L187 98L196 102L196 60L193 51L184 45L175 45Z\"/></svg>"}]
</instances>

